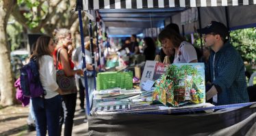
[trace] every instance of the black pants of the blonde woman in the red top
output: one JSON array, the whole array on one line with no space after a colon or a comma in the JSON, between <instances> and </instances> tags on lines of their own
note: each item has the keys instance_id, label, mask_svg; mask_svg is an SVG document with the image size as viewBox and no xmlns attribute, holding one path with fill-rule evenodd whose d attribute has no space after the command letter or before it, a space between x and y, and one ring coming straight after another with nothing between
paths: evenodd
<instances>
[{"instance_id":1,"label":"black pants of the blonde woman in the red top","mask_svg":"<svg viewBox=\"0 0 256 136\"><path fill-rule=\"evenodd\" d=\"M60 135L62 133L62 124L64 122L64 136L71 136L73 129L73 118L75 114L75 105L77 101L77 93L70 95L62 95L62 109L60 113Z\"/></svg>"}]
</instances>

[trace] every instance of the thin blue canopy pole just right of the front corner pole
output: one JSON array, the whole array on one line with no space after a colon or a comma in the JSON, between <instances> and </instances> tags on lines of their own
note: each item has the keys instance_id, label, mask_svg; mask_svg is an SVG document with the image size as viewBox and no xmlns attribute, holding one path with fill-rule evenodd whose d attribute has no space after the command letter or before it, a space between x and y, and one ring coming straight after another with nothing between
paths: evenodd
<instances>
[{"instance_id":1,"label":"thin blue canopy pole just right of the front corner pole","mask_svg":"<svg viewBox=\"0 0 256 136\"><path fill-rule=\"evenodd\" d=\"M93 51L93 37L92 37L92 20L89 20L89 35L90 35L90 53L92 56L92 69L93 69L93 78L94 78L94 89L96 90L96 70L95 70L95 60L94 60L94 51Z\"/></svg>"}]
</instances>

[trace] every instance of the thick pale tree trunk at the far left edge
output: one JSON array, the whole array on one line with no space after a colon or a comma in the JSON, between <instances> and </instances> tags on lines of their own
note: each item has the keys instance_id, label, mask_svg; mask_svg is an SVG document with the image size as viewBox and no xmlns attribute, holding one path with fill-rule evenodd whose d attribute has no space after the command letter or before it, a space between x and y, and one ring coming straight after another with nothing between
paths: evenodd
<instances>
[{"instance_id":1,"label":"thick pale tree trunk at the far left edge","mask_svg":"<svg viewBox=\"0 0 256 136\"><path fill-rule=\"evenodd\" d=\"M7 106L14 104L14 80L10 63L10 48L7 43L6 27L13 1L0 1L0 105Z\"/></svg>"}]
</instances>

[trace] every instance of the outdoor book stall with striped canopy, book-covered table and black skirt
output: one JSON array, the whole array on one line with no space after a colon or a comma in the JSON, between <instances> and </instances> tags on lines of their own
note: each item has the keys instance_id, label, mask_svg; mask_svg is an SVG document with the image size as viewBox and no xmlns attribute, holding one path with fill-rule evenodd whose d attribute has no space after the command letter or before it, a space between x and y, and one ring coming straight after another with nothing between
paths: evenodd
<instances>
[{"instance_id":1,"label":"outdoor book stall with striped canopy, book-covered table and black skirt","mask_svg":"<svg viewBox=\"0 0 256 136\"><path fill-rule=\"evenodd\" d=\"M211 20L224 22L229 30L255 27L255 3L256 1L250 0L84 0L77 1L77 10L80 29L83 28L81 12L85 11L90 18L92 43L91 21L94 20L94 10L99 10L97 14L107 11L105 14L111 16L105 17L109 20L105 22L108 27L131 27L129 24L132 23L137 26L135 22L123 22L120 17L114 18L113 16L118 16L119 11L144 16L140 11L151 10L151 18L157 16L154 11L162 10L158 15L164 12L170 14L170 22L179 24L183 33L194 33ZM145 22L144 26L152 29L157 25L155 23L166 22L166 19L161 18L166 18L166 15L158 17L155 21L151 19L148 24ZM114 31L114 28L112 30ZM120 33L121 31L122 29ZM84 46L82 32L81 30L81 44ZM84 49L82 52L84 53ZM84 56L83 61L85 64ZM86 75L86 65L84 69ZM205 103L203 63L168 65L167 59L164 63L146 61L140 88L133 88L132 80L131 72L98 73L94 82L96 89L91 99L92 105L86 84L86 114L90 135L256 134L255 103L219 106Z\"/></svg>"}]
</instances>

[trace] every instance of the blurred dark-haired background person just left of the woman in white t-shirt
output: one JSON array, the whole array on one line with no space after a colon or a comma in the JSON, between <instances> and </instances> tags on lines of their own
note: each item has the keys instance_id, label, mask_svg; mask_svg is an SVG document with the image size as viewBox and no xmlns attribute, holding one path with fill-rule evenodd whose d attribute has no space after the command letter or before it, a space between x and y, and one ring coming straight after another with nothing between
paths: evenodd
<instances>
[{"instance_id":1,"label":"blurred dark-haired background person just left of the woman in white t-shirt","mask_svg":"<svg viewBox=\"0 0 256 136\"><path fill-rule=\"evenodd\" d=\"M144 52L146 61L154 61L155 59L155 42L151 37L144 37Z\"/></svg>"}]
</instances>

